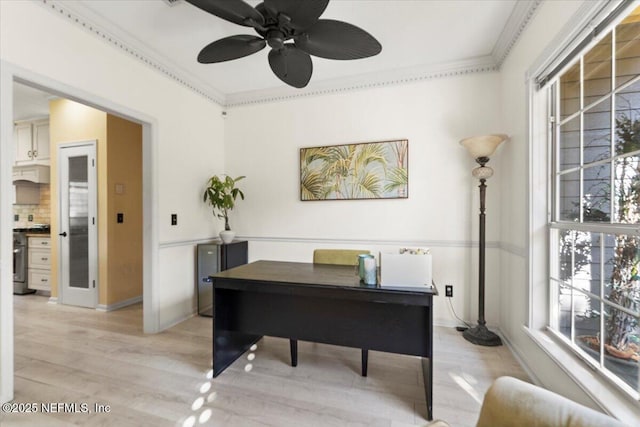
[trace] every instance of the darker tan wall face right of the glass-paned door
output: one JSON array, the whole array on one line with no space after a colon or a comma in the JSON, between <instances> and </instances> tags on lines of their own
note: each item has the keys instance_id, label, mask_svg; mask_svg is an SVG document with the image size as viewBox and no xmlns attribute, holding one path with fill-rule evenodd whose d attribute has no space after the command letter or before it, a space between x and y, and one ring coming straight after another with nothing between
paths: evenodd
<instances>
[{"instance_id":1,"label":"darker tan wall face right of the glass-paned door","mask_svg":"<svg viewBox=\"0 0 640 427\"><path fill-rule=\"evenodd\" d=\"M115 304L142 295L142 126L109 114L107 141L107 304Z\"/></svg>"}]
</instances>

